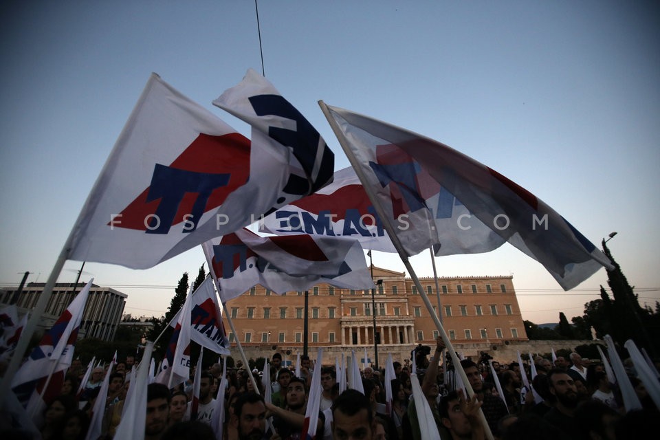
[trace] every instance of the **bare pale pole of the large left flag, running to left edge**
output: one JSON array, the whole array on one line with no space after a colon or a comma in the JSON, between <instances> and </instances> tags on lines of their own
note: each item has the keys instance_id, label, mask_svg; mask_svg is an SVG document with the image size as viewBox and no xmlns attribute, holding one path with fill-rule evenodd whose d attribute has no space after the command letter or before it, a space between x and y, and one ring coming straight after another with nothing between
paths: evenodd
<instances>
[{"instance_id":1,"label":"bare pale pole of the large left flag, running to left edge","mask_svg":"<svg viewBox=\"0 0 660 440\"><path fill-rule=\"evenodd\" d=\"M71 242L72 236L73 230L69 234L69 239L67 239L60 252L60 255L55 261L53 270L50 272L50 276L48 276L46 285L43 287L43 291L39 296L39 300L36 302L36 307L34 307L32 310L32 315L28 320L28 324L25 325L25 329L23 330L21 338L19 338L19 343L17 344L16 349L14 349L12 360L10 360L9 365L5 370L5 375L2 378L2 383L0 384L0 396L6 395L10 391L12 379L14 378L16 372L19 370L21 361L25 356L25 351L28 349L28 344L30 343L30 340L32 340L32 335L36 330L36 325L39 324L39 321L41 321L41 315L43 315L45 312L46 306L50 302L50 298L53 295L53 287L55 287L57 278L60 276L62 268L64 267L64 263L67 261L67 256L71 250L69 243Z\"/></svg>"}]
</instances>

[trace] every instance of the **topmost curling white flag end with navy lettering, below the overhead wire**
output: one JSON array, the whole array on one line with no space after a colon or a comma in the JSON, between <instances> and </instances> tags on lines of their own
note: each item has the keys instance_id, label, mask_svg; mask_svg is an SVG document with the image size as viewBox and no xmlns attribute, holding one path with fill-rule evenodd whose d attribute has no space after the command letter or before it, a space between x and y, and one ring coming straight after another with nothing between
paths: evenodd
<instances>
[{"instance_id":1,"label":"topmost curling white flag end with navy lettering, below the overhead wire","mask_svg":"<svg viewBox=\"0 0 660 440\"><path fill-rule=\"evenodd\" d=\"M248 69L243 81L226 90L213 104L248 122L252 126L252 142L259 142L264 151L272 148L274 152L292 152L287 184L278 206L316 192L332 181L335 159L325 140L253 69Z\"/></svg>"}]
</instances>

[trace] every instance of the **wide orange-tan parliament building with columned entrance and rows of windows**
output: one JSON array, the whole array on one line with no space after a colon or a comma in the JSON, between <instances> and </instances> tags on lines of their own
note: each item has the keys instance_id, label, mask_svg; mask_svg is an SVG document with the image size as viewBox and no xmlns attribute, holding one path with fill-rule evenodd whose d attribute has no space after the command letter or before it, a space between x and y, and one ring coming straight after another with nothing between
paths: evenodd
<instances>
[{"instance_id":1,"label":"wide orange-tan parliament building with columned entrance and rows of windows","mask_svg":"<svg viewBox=\"0 0 660 440\"><path fill-rule=\"evenodd\" d=\"M310 358L323 347L323 363L334 364L344 352L384 366L388 354L399 362L410 358L417 344L432 345L438 330L412 279L404 272L373 267L372 290L339 289L318 285L307 293L307 346ZM512 342L527 341L511 276L439 278L443 328L454 349L465 356L493 353ZM420 278L430 303L438 312L435 278ZM229 300L236 335L229 334L232 348L238 339L248 358L282 354L295 364L303 354L305 293L272 294L261 286ZM375 332L374 332L375 316ZM375 333L375 334L374 334ZM233 350L232 350L233 351Z\"/></svg>"}]
</instances>

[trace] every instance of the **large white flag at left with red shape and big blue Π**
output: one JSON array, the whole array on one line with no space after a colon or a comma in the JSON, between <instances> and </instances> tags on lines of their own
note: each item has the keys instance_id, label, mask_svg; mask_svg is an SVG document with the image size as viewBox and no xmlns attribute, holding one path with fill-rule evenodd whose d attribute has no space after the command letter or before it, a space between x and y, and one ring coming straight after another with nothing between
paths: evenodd
<instances>
[{"instance_id":1,"label":"large white flag at left with red shape and big blue \u03a0","mask_svg":"<svg viewBox=\"0 0 660 440\"><path fill-rule=\"evenodd\" d=\"M275 114L288 104L267 102L263 111ZM288 147L316 158L320 143L272 131L294 133L296 144L267 135L250 142L152 74L80 212L67 258L153 267L306 195L327 182L328 166L331 178L333 157L324 153L312 161L318 181L293 190Z\"/></svg>"}]
</instances>

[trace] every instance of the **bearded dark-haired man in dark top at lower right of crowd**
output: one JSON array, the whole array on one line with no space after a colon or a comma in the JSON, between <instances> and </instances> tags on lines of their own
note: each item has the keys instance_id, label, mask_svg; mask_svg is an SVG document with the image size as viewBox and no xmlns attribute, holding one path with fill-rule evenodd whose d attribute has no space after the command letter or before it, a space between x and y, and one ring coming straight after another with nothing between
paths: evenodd
<instances>
[{"instance_id":1,"label":"bearded dark-haired man in dark top at lower right of crowd","mask_svg":"<svg viewBox=\"0 0 660 440\"><path fill-rule=\"evenodd\" d=\"M559 369L551 370L547 375L548 387L553 400L553 407L543 416L544 419L564 432L564 438L577 439L577 388L569 373Z\"/></svg>"}]
</instances>

